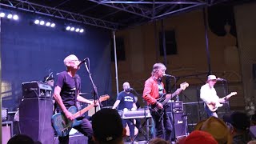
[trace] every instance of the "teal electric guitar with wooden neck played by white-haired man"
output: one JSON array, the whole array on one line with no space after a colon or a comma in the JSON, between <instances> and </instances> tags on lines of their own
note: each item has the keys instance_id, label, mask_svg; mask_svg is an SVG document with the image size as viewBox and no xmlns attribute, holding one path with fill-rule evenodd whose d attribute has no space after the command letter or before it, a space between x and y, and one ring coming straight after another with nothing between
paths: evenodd
<instances>
[{"instance_id":1,"label":"teal electric guitar with wooden neck played by white-haired man","mask_svg":"<svg viewBox=\"0 0 256 144\"><path fill-rule=\"evenodd\" d=\"M108 98L110 98L110 96L106 94L101 98L99 98L99 101L100 102L106 101ZM78 118L82 114L86 113L86 111L93 108L94 105L95 104L90 104L89 106L86 106L84 109L80 111L77 110L76 106L70 106L69 111L71 114L74 115L74 118ZM72 129L72 127L78 126L81 124L81 120L78 121L74 119L73 121L71 121L70 119L66 118L66 115L62 112L62 113L54 114L51 117L51 123L52 123L52 126L54 127L54 130L56 131L56 134L59 137L65 137L70 133L70 130Z\"/></svg>"}]
</instances>

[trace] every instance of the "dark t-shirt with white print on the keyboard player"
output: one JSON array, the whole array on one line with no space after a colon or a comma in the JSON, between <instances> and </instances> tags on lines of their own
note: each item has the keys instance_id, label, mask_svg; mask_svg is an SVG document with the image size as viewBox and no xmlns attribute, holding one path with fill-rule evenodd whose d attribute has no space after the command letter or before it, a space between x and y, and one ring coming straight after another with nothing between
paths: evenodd
<instances>
[{"instance_id":1,"label":"dark t-shirt with white print on the keyboard player","mask_svg":"<svg viewBox=\"0 0 256 144\"><path fill-rule=\"evenodd\" d=\"M122 91L118 94L117 100L120 100L120 103L118 105L118 110L123 110L124 108L127 108L128 110L131 110L133 108L133 103L135 102L134 94Z\"/></svg>"}]
</instances>

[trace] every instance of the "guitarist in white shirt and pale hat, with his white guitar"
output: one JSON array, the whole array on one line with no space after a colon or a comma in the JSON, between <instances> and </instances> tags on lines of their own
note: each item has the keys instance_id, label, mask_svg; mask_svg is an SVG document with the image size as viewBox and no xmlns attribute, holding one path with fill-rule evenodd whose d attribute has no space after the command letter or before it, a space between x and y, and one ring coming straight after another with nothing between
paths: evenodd
<instances>
[{"instance_id":1,"label":"guitarist in white shirt and pale hat, with his white guitar","mask_svg":"<svg viewBox=\"0 0 256 144\"><path fill-rule=\"evenodd\" d=\"M224 98L219 98L216 90L214 89L214 85L221 78L216 78L215 75L209 75L207 77L206 84L203 85L200 89L200 98L203 102L205 102L205 109L208 116L214 116L218 118L216 110L218 107L223 106L222 103L225 103L233 95L237 94L237 92L231 92Z\"/></svg>"}]
</instances>

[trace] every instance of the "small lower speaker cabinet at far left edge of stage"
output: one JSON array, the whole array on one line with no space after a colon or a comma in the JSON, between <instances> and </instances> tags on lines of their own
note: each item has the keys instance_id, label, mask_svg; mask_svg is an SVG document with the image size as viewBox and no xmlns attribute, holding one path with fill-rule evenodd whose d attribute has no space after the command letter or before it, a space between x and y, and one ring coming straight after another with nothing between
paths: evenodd
<instances>
[{"instance_id":1,"label":"small lower speaker cabinet at far left edge of stage","mask_svg":"<svg viewBox=\"0 0 256 144\"><path fill-rule=\"evenodd\" d=\"M2 144L6 144L13 136L13 122L2 122Z\"/></svg>"}]
</instances>

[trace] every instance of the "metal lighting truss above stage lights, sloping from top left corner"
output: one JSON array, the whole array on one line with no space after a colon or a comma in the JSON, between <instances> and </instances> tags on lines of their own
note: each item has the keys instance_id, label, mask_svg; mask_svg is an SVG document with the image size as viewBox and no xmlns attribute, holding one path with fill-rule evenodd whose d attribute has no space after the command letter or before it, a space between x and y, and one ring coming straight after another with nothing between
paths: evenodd
<instances>
[{"instance_id":1,"label":"metal lighting truss above stage lights, sloping from top left corner","mask_svg":"<svg viewBox=\"0 0 256 144\"><path fill-rule=\"evenodd\" d=\"M60 18L71 22L79 22L90 26L98 26L109 30L118 30L118 27L120 27L118 23L108 22L98 18L91 18L86 15L75 14L66 10L58 10L49 6L42 6L22 0L1 0L0 6L25 10L31 13Z\"/></svg>"}]
</instances>

